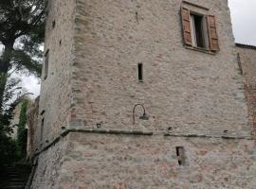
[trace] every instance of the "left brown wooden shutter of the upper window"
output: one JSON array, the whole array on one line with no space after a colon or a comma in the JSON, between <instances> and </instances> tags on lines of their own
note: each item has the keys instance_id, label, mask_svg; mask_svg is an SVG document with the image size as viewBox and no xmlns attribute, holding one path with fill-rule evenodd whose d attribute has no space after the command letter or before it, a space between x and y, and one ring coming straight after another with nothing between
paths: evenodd
<instances>
[{"instance_id":1,"label":"left brown wooden shutter of the upper window","mask_svg":"<svg viewBox=\"0 0 256 189\"><path fill-rule=\"evenodd\" d=\"M181 8L181 18L182 18L182 25L183 25L184 42L187 45L192 45L190 10L186 8Z\"/></svg>"}]
</instances>

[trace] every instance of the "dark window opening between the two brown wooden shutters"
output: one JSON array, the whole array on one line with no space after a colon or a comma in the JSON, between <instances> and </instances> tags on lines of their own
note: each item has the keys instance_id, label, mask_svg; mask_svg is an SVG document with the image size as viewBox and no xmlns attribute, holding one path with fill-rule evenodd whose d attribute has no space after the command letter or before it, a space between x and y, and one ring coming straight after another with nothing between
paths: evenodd
<instances>
[{"instance_id":1,"label":"dark window opening between the two brown wooden shutters","mask_svg":"<svg viewBox=\"0 0 256 189\"><path fill-rule=\"evenodd\" d=\"M192 44L197 47L204 48L205 36L204 36L204 16L191 14L192 25Z\"/></svg>"}]
</instances>

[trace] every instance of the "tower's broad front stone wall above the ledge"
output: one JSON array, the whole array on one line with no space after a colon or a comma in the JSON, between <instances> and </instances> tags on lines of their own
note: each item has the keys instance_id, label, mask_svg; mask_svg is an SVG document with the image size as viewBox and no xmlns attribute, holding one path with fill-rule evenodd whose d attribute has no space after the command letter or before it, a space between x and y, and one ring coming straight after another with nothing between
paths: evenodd
<instances>
[{"instance_id":1,"label":"tower's broad front stone wall above the ledge","mask_svg":"<svg viewBox=\"0 0 256 189\"><path fill-rule=\"evenodd\" d=\"M172 127L178 133L247 135L247 106L223 0L192 0L214 14L220 51L183 44L180 0L77 2L73 96L76 126ZM143 62L144 82L137 80ZM133 108L145 106L147 122ZM142 112L136 110L138 117Z\"/></svg>"}]
</instances>

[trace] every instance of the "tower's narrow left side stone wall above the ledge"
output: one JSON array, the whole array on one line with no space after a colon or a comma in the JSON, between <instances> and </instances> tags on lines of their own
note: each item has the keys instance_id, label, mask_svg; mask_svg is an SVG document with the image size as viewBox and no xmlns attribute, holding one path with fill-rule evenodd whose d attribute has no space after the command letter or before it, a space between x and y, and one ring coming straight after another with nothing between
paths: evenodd
<instances>
[{"instance_id":1,"label":"tower's narrow left side stone wall above the ledge","mask_svg":"<svg viewBox=\"0 0 256 189\"><path fill-rule=\"evenodd\" d=\"M75 24L75 0L48 2L45 52L48 74L43 67L38 127L44 118L41 147L54 140L67 127L71 109L71 64ZM38 135L40 138L40 134ZM40 147L38 147L40 148Z\"/></svg>"}]
</instances>

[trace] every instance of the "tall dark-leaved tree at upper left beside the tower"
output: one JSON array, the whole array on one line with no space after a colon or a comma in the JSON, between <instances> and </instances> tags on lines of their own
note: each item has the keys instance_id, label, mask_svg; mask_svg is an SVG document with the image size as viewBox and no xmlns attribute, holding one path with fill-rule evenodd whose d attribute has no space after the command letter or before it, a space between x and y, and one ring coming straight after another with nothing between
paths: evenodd
<instances>
[{"instance_id":1,"label":"tall dark-leaved tree at upper left beside the tower","mask_svg":"<svg viewBox=\"0 0 256 189\"><path fill-rule=\"evenodd\" d=\"M45 21L46 0L0 0L0 107L9 70L40 75Z\"/></svg>"}]
</instances>

